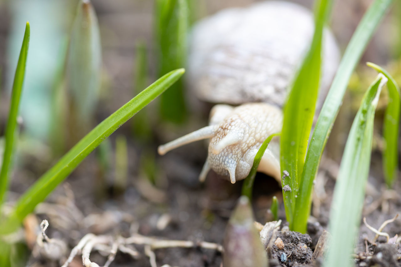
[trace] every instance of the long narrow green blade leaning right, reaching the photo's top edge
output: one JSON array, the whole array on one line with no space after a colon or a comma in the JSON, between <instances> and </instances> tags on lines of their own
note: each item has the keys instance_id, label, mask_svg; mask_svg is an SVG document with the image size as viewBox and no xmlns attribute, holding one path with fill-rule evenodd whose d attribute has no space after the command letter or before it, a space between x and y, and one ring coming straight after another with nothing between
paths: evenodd
<instances>
[{"instance_id":1,"label":"long narrow green blade leaning right, reaching the photo's top edge","mask_svg":"<svg viewBox=\"0 0 401 267\"><path fill-rule=\"evenodd\" d=\"M375 28L391 4L391 1L392 0L376 0L371 5L352 35L344 56L342 57L330 91L320 111L306 154L304 170L302 172L302 184L298 192L294 213L294 226L296 226L296 231L302 233L306 231L306 224L312 202L313 181L319 167L324 146L326 145L334 120L340 109L348 81L363 51L365 51Z\"/></svg>"}]
</instances>

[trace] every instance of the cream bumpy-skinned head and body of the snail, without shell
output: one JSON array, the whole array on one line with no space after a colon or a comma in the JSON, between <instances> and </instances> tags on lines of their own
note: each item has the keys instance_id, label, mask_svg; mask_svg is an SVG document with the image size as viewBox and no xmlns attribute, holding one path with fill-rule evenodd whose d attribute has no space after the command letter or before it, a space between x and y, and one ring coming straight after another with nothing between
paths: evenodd
<instances>
[{"instance_id":1,"label":"cream bumpy-skinned head and body of the snail, without shell","mask_svg":"<svg viewBox=\"0 0 401 267\"><path fill-rule=\"evenodd\" d=\"M225 113L225 116L222 114ZM193 141L211 138L208 157L199 175L204 181L210 169L229 177L231 183L244 179L267 136L282 128L282 111L267 103L249 103L239 107L216 105L211 112L211 125L169 142L159 154ZM279 144L273 139L259 164L259 171L280 181Z\"/></svg>"}]
</instances>

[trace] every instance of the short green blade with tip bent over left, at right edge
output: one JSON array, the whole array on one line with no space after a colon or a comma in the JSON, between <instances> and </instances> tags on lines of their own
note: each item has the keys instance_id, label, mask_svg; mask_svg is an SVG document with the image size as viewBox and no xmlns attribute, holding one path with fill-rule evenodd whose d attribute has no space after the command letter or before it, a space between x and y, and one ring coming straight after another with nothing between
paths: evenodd
<instances>
[{"instance_id":1,"label":"short green blade with tip bent over left, at right edge","mask_svg":"<svg viewBox=\"0 0 401 267\"><path fill-rule=\"evenodd\" d=\"M398 134L401 106L400 89L393 77L383 68L370 62L368 62L367 65L379 73L382 73L389 80L387 82L389 103L387 104L383 124L383 136L385 140L383 172L386 184L391 188L394 179L397 177L398 168Z\"/></svg>"}]
</instances>

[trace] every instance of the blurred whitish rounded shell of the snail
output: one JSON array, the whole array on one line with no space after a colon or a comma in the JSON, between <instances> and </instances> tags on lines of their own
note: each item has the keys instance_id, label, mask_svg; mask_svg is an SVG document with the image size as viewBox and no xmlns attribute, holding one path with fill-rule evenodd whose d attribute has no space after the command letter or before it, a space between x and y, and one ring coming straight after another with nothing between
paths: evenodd
<instances>
[{"instance_id":1,"label":"blurred whitish rounded shell of the snail","mask_svg":"<svg viewBox=\"0 0 401 267\"><path fill-rule=\"evenodd\" d=\"M266 1L218 12L193 28L190 88L199 99L212 103L266 102L282 107L313 33L312 12L290 2ZM328 29L323 44L321 99L340 58Z\"/></svg>"}]
</instances>

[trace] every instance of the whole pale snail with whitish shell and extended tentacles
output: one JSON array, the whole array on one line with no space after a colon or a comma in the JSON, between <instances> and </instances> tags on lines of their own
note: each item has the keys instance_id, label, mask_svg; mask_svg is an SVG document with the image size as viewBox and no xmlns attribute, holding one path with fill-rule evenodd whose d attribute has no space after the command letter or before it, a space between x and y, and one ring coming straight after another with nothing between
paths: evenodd
<instances>
[{"instance_id":1,"label":"whole pale snail with whitish shell and extended tentacles","mask_svg":"<svg viewBox=\"0 0 401 267\"><path fill-rule=\"evenodd\" d=\"M192 30L188 81L199 99L219 104L211 110L209 126L159 146L158 153L164 155L179 146L210 138L199 179L204 181L211 169L229 177L231 183L246 178L263 141L281 131L287 88L313 32L313 14L284 1L231 8L198 22ZM327 28L323 38L317 108L322 105L340 57ZM281 184L277 137L267 147L258 171Z\"/></svg>"}]
</instances>

